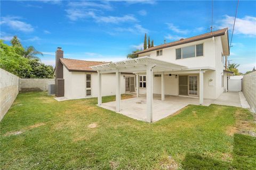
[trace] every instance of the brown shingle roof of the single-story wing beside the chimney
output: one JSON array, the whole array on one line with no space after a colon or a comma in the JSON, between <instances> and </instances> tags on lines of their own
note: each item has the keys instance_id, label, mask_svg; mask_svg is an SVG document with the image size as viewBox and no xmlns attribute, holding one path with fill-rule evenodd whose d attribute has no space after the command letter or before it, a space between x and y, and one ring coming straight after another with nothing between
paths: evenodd
<instances>
[{"instance_id":1,"label":"brown shingle roof of the single-story wing beside the chimney","mask_svg":"<svg viewBox=\"0 0 256 170\"><path fill-rule=\"evenodd\" d=\"M109 62L74 60L74 59L69 59L69 58L60 58L60 62L69 71L83 71L83 72L96 72L96 71L92 70L90 68L90 66L109 63Z\"/></svg>"}]
</instances>

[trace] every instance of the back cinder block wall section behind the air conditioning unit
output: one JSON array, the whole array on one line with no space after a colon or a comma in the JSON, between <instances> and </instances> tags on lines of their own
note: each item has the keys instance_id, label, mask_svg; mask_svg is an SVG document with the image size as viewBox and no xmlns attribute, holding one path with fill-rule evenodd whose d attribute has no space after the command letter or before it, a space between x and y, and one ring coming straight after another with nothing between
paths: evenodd
<instances>
[{"instance_id":1,"label":"back cinder block wall section behind the air conditioning unit","mask_svg":"<svg viewBox=\"0 0 256 170\"><path fill-rule=\"evenodd\" d=\"M19 91L47 91L49 83L54 84L54 79L20 79Z\"/></svg>"}]
</instances>

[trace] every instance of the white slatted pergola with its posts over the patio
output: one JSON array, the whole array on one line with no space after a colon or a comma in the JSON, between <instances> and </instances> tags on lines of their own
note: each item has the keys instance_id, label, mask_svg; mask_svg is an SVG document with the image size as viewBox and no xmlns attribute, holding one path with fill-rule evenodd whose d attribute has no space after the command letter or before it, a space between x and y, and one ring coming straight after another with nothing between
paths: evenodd
<instances>
[{"instance_id":1,"label":"white slatted pergola with its posts over the patio","mask_svg":"<svg viewBox=\"0 0 256 170\"><path fill-rule=\"evenodd\" d=\"M161 73L161 99L164 100L164 72L182 71L187 69L183 65L173 64L166 61L157 60L151 57L139 57L131 60L124 60L119 62L112 62L102 65L91 66L92 70L98 72L98 105L102 103L101 96L101 75L106 73L116 73L116 112L121 111L121 72L130 72L136 74L136 92L139 97L139 74L146 72L146 89L147 89L147 121L153 120L153 71ZM199 70L200 93L199 103L203 104L203 70ZM202 84L201 84L202 82Z\"/></svg>"}]
</instances>

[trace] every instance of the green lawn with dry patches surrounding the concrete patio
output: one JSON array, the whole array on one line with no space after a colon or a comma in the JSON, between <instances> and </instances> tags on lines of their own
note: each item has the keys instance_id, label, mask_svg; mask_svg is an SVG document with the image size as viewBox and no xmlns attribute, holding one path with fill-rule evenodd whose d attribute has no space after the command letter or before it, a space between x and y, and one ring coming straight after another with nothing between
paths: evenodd
<instances>
[{"instance_id":1,"label":"green lawn with dry patches surrounding the concrete patio","mask_svg":"<svg viewBox=\"0 0 256 170\"><path fill-rule=\"evenodd\" d=\"M255 131L246 109L189 105L179 114L146 123L95 104L97 98L58 102L45 92L19 94L1 121L1 168L256 167L256 139L237 134Z\"/></svg>"}]
</instances>

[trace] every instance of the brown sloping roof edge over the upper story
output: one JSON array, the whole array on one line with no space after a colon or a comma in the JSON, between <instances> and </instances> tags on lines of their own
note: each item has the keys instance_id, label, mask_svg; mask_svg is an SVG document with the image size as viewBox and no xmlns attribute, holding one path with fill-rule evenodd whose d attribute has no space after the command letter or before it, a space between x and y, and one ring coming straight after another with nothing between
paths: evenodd
<instances>
[{"instance_id":1,"label":"brown sloping roof edge over the upper story","mask_svg":"<svg viewBox=\"0 0 256 170\"><path fill-rule=\"evenodd\" d=\"M142 54L142 53L146 53L146 52L151 52L151 51L157 50L157 49L177 46L177 45L180 45L180 44L190 43L190 42L193 42L193 41L198 41L198 40L202 40L202 39L206 39L206 38L222 36L222 35L225 35L227 30L228 30L228 28L224 28L224 29L221 29L221 30L204 33L202 35L198 35L198 36L194 36L194 37L190 37L190 38L184 38L183 40L173 41L171 43L166 43L166 44L162 44L162 45L159 45L159 46L150 47L148 49L145 49L145 50L142 50L140 52L134 53L133 55Z\"/></svg>"}]
</instances>

